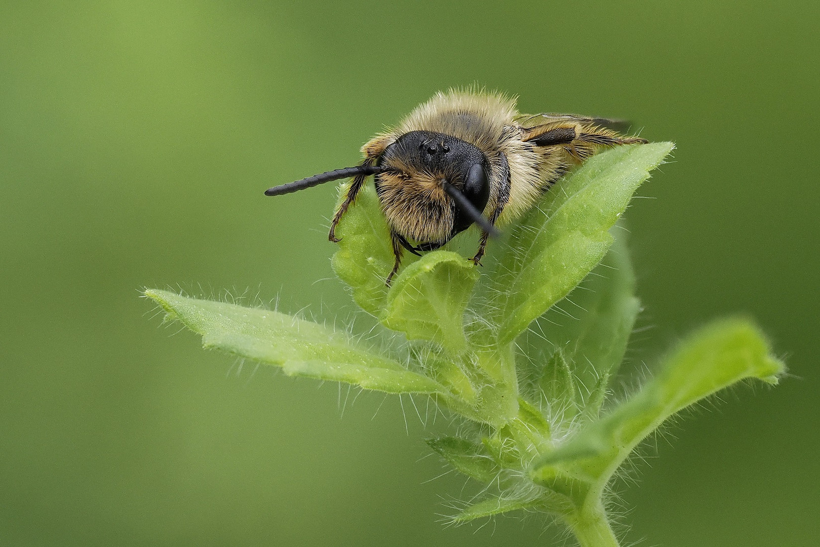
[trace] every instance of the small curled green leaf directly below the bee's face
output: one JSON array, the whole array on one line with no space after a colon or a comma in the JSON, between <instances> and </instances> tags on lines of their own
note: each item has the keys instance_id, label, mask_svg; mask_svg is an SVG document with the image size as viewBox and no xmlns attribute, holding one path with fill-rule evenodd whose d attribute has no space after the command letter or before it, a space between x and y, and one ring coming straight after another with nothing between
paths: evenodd
<instances>
[{"instance_id":1,"label":"small curled green leaf directly below the bee's face","mask_svg":"<svg viewBox=\"0 0 820 547\"><path fill-rule=\"evenodd\" d=\"M460 254L427 253L396 278L381 322L409 340L431 340L453 353L462 352L467 348L464 310L478 276L476 267Z\"/></svg>"}]
</instances>

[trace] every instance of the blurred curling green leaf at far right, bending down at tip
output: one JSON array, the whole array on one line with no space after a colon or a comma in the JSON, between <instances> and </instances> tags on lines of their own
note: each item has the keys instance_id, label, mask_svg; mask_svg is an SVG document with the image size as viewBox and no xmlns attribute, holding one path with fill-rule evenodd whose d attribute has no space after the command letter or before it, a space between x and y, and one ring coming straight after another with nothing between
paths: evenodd
<instances>
[{"instance_id":1,"label":"blurred curling green leaf at far right, bending down at tip","mask_svg":"<svg viewBox=\"0 0 820 547\"><path fill-rule=\"evenodd\" d=\"M746 378L777 384L785 370L749 321L716 321L684 340L639 393L540 458L533 477L543 483L572 463L575 476L608 480L635 445L672 414Z\"/></svg>"}]
</instances>

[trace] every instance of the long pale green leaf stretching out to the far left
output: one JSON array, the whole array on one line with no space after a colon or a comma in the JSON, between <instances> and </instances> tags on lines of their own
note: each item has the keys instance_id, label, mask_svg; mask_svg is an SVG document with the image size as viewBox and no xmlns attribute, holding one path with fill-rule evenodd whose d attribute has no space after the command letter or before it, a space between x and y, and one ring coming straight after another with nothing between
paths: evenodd
<instances>
[{"instance_id":1,"label":"long pale green leaf stretching out to the far left","mask_svg":"<svg viewBox=\"0 0 820 547\"><path fill-rule=\"evenodd\" d=\"M282 367L289 376L341 381L388 393L444 393L426 376L362 347L346 335L312 321L262 308L189 299L148 289L171 319L203 336L203 347Z\"/></svg>"}]
</instances>

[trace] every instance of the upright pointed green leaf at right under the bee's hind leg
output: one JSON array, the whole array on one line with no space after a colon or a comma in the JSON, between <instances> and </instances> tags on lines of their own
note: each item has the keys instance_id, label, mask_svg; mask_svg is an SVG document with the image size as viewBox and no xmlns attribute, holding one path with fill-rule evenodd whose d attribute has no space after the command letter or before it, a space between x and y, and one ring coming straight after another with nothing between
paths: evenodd
<instances>
[{"instance_id":1,"label":"upright pointed green leaf at right under the bee's hind leg","mask_svg":"<svg viewBox=\"0 0 820 547\"><path fill-rule=\"evenodd\" d=\"M608 230L672 148L635 144L591 157L526 214L491 276L500 343L514 340L604 258L613 239Z\"/></svg>"}]
</instances>

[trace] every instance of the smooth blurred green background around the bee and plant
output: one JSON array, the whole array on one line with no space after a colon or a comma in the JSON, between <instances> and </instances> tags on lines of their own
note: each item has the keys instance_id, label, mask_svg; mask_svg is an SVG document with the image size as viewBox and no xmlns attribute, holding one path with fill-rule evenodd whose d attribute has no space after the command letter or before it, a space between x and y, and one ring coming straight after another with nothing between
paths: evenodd
<instances>
[{"instance_id":1,"label":"smooth blurred green background around the bee and plant","mask_svg":"<svg viewBox=\"0 0 820 547\"><path fill-rule=\"evenodd\" d=\"M442 526L463 482L430 481L441 421L410 411L406 433L397 399L345 405L203 352L139 299L347 317L335 190L262 190L354 164L474 82L678 144L626 215L652 327L634 362L748 312L794 374L646 451L627 542L818 545L818 20L817 2L0 2L0 545L553 545L522 515Z\"/></svg>"}]
</instances>

